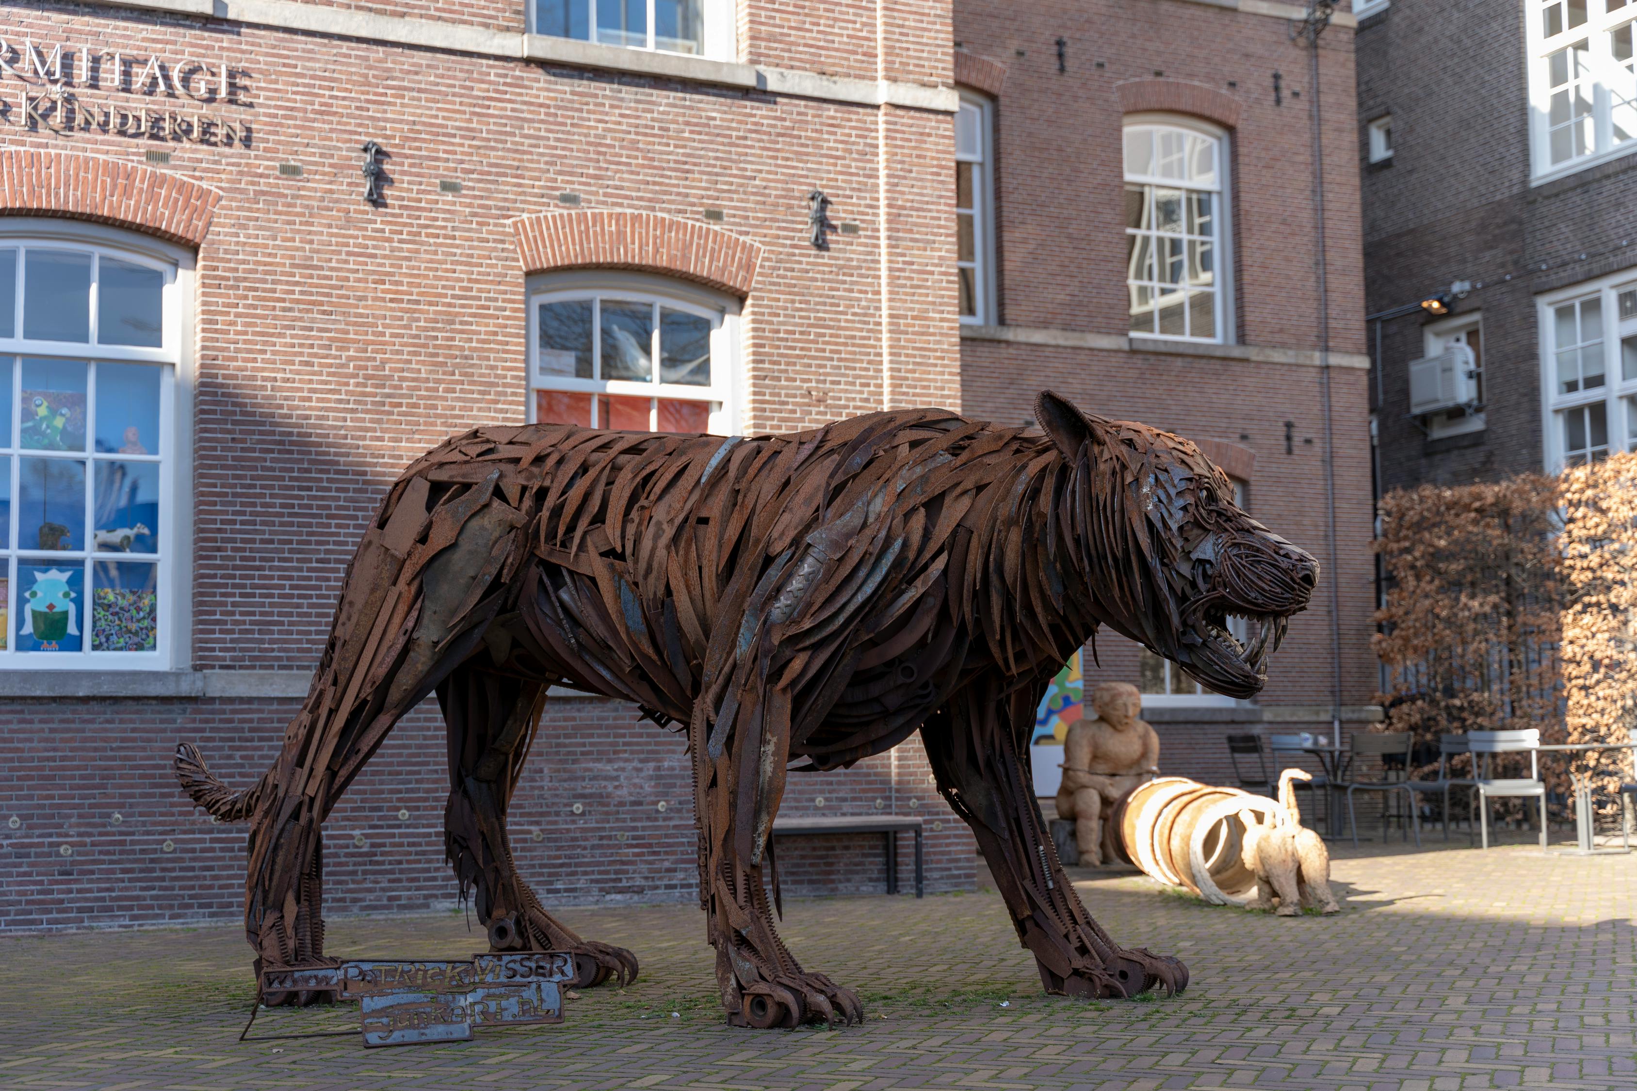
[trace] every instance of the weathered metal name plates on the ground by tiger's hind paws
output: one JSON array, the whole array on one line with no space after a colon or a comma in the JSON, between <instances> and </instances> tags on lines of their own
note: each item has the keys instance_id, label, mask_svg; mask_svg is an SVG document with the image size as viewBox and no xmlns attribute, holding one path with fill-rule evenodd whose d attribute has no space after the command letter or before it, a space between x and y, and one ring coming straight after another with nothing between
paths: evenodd
<instances>
[{"instance_id":1,"label":"weathered metal name plates on the ground by tiger's hind paws","mask_svg":"<svg viewBox=\"0 0 1637 1091\"><path fill-rule=\"evenodd\" d=\"M355 959L267 970L262 991L329 991L355 999L365 1045L414 1045L465 1042L473 1027L561 1022L558 986L573 977L575 960L563 952L488 954L470 962Z\"/></svg>"}]
</instances>

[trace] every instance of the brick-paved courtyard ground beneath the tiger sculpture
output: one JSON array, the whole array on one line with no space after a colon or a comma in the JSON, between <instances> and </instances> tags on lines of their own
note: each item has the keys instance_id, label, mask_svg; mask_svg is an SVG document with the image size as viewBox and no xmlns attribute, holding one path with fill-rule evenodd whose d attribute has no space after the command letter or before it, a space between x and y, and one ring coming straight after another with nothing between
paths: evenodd
<instances>
[{"instance_id":1,"label":"brick-paved courtyard ground beneath the tiger sculpture","mask_svg":"<svg viewBox=\"0 0 1637 1091\"><path fill-rule=\"evenodd\" d=\"M1079 883L1125 942L1184 955L1193 986L1151 1003L1039 993L992 893L812 900L786 934L850 981L869 1022L720 1022L691 906L575 909L638 952L557 1027L365 1050L249 1042L249 950L232 926L0 939L0 1088L1634 1088L1637 855L1337 849L1341 918L1210 908L1131 875ZM334 923L334 954L467 955L458 916ZM674 1012L674 1014L673 1014ZM345 1026L277 1011L257 1034Z\"/></svg>"}]
</instances>

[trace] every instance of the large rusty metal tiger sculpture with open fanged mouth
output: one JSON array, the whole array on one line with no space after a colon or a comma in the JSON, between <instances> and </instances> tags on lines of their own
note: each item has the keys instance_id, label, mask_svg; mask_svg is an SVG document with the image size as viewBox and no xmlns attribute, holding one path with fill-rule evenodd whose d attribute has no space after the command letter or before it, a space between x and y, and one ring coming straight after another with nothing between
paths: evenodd
<instances>
[{"instance_id":1,"label":"large rusty metal tiger sculpture with open fanged mouth","mask_svg":"<svg viewBox=\"0 0 1637 1091\"><path fill-rule=\"evenodd\" d=\"M1051 393L1036 419L1043 432L918 409L750 438L542 424L429 451L363 535L277 764L234 793L177 752L196 803L252 823L259 972L326 962L319 824L435 692L445 851L491 947L570 950L581 985L634 978L630 952L547 913L507 842L547 687L563 685L688 734L732 1024L861 1019L774 931L769 829L787 769L848 765L917 730L1048 993L1180 991L1180 962L1115 944L1064 878L1030 780L1035 708L1098 625L1220 694L1256 694L1318 566L1239 510L1193 443ZM1231 636L1229 615L1254 636Z\"/></svg>"}]
</instances>

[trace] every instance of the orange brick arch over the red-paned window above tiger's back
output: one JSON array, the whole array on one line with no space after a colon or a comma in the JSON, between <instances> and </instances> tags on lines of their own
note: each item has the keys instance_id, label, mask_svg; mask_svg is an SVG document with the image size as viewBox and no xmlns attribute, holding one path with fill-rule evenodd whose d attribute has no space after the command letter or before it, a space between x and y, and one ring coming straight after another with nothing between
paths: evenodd
<instances>
[{"instance_id":1,"label":"orange brick arch over the red-paned window above tiger's back","mask_svg":"<svg viewBox=\"0 0 1637 1091\"><path fill-rule=\"evenodd\" d=\"M704 224L653 213L537 213L511 221L525 273L630 268L748 296L761 247Z\"/></svg>"}]
</instances>

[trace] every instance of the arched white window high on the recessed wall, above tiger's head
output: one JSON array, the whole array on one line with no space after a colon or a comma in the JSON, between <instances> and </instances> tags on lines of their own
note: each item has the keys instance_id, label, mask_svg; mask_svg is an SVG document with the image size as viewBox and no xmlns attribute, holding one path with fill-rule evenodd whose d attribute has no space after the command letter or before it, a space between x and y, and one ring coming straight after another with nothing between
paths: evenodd
<instances>
[{"instance_id":1,"label":"arched white window high on the recessed wall, above tiger's head","mask_svg":"<svg viewBox=\"0 0 1637 1091\"><path fill-rule=\"evenodd\" d=\"M1203 123L1128 118L1125 180L1131 335L1229 340L1226 137Z\"/></svg>"}]
</instances>

